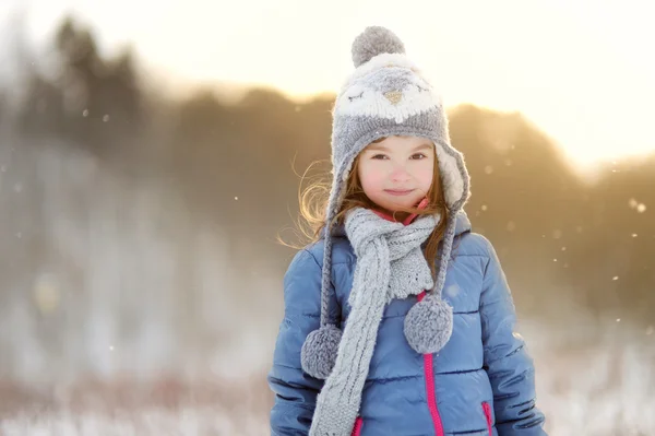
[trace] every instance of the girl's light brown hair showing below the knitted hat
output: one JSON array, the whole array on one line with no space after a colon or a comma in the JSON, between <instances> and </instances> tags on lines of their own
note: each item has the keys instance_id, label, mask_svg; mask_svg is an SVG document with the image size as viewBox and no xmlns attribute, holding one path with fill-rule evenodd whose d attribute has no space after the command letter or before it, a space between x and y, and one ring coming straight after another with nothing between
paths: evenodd
<instances>
[{"instance_id":1,"label":"girl's light brown hair showing below the knitted hat","mask_svg":"<svg viewBox=\"0 0 655 436\"><path fill-rule=\"evenodd\" d=\"M384 138L379 139L374 142L380 142ZM301 182L298 187L300 220L297 222L298 232L296 232L300 236L300 241L298 244L289 244L285 243L281 237L278 237L278 241L287 247L302 249L308 244L317 243L323 237L323 233L326 225L325 212L327 207L327 200L330 198L330 190L332 188L331 177L327 177L330 176L329 174L322 174L322 177L311 181L307 188L302 189L302 180L306 179L308 172L314 165L318 165L320 163L321 161L312 163L301 177ZM343 200L341 202L336 215L334 216L334 220L330 223L330 228L333 228L334 225L343 225L346 213L352 209L380 209L380 207L373 203L364 192L364 189L361 188L361 182L359 180L358 165L359 155L353 162L353 168L350 169L348 179L346 181L345 192L342 195ZM432 184L426 197L428 198L428 204L425 209L402 208L393 212L393 217L396 221L401 221L403 217L414 213L417 215L439 214L441 216L439 224L437 225L437 227L434 227L434 231L432 231L432 233L428 237L426 247L424 249L424 255L428 260L430 271L432 272L432 275L434 275L437 251L439 248L439 243L443 238L443 234L445 232L445 224L448 222L450 213L445 204L445 197L443 188L441 186L441 176L439 172L437 155L434 155Z\"/></svg>"}]
</instances>

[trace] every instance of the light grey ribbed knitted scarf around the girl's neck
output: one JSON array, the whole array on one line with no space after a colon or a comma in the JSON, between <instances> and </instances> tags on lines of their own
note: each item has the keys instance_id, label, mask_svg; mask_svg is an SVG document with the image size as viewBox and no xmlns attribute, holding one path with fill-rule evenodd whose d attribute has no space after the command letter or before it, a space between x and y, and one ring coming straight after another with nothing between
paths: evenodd
<instances>
[{"instance_id":1,"label":"light grey ribbed knitted scarf around the girl's neck","mask_svg":"<svg viewBox=\"0 0 655 436\"><path fill-rule=\"evenodd\" d=\"M357 256L348 298L352 309L334 369L317 400L310 436L350 435L384 306L433 286L421 244L438 220L424 215L404 225L368 209L355 209L346 216L346 234Z\"/></svg>"}]
</instances>

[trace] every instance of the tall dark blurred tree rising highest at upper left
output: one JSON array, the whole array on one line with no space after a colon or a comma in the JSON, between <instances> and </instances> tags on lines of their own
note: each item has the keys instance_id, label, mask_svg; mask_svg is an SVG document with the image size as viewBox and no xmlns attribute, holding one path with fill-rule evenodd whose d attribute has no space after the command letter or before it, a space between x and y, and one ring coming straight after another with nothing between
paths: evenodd
<instances>
[{"instance_id":1,"label":"tall dark blurred tree rising highest at upper left","mask_svg":"<svg viewBox=\"0 0 655 436\"><path fill-rule=\"evenodd\" d=\"M55 42L55 80L32 71L22 110L24 132L57 134L95 152L123 145L143 120L131 48L104 59L91 30L67 16Z\"/></svg>"}]
</instances>

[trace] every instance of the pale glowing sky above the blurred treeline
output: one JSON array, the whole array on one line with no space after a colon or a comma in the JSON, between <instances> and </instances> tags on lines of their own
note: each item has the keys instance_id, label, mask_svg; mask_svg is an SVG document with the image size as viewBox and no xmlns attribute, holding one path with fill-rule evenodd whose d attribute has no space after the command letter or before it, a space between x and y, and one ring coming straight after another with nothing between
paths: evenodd
<instances>
[{"instance_id":1,"label":"pale glowing sky above the blurred treeline","mask_svg":"<svg viewBox=\"0 0 655 436\"><path fill-rule=\"evenodd\" d=\"M36 40L72 10L104 49L132 42L177 84L265 84L299 97L335 92L353 70L353 38L383 25L446 105L520 110L582 167L655 150L655 7L646 0L27 3Z\"/></svg>"}]
</instances>

